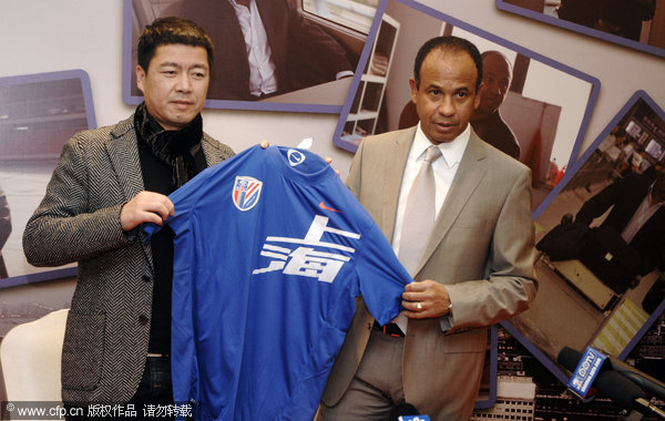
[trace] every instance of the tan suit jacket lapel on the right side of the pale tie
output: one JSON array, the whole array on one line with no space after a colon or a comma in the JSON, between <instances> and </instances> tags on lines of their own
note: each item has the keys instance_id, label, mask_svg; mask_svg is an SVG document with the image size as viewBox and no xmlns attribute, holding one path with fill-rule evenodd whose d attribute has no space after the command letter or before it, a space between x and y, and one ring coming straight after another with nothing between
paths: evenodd
<instances>
[{"instance_id":1,"label":"tan suit jacket lapel on the right side of the pale tie","mask_svg":"<svg viewBox=\"0 0 665 421\"><path fill-rule=\"evenodd\" d=\"M475 133L471 132L471 137L462 155L460 167L439 210L434 228L430 234L420 263L416 268L416 274L422 269L432 253L434 253L439 244L443 240L443 237L448 234L458 215L462 212L481 179L485 176L487 167L483 163L485 153L482 142Z\"/></svg>"}]
</instances>

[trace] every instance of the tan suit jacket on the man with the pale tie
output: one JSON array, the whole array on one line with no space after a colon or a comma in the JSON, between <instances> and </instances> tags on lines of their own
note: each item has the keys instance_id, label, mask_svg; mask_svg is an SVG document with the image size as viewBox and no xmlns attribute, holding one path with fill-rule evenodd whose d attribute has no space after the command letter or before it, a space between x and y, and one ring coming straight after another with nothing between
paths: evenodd
<instances>
[{"instance_id":1,"label":"tan suit jacket on the man with the pale tie","mask_svg":"<svg viewBox=\"0 0 665 421\"><path fill-rule=\"evenodd\" d=\"M365 138L347 186L392 239L397 203L416 127ZM447 286L453 317L409 320L402 377L406 400L433 420L467 420L478 396L487 327L524 311L536 291L531 172L475 133L439 212L415 279ZM349 386L374 318L359 300L323 402Z\"/></svg>"}]
</instances>

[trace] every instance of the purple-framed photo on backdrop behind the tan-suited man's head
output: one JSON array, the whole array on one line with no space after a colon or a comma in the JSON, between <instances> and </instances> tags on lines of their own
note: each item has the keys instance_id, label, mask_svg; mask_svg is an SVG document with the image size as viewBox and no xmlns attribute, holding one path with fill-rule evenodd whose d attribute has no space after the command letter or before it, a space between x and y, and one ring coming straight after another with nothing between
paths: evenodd
<instances>
[{"instance_id":1,"label":"purple-framed photo on backdrop behind the tan-suited man's head","mask_svg":"<svg viewBox=\"0 0 665 421\"><path fill-rule=\"evenodd\" d=\"M409 86L416 53L443 34L473 42L485 74L501 75L504 86L480 92L471 124L485 142L531 168L535 209L577 156L600 81L416 1L379 3L360 57L365 71L354 76L335 144L355 152L365 136L418 123Z\"/></svg>"}]
</instances>

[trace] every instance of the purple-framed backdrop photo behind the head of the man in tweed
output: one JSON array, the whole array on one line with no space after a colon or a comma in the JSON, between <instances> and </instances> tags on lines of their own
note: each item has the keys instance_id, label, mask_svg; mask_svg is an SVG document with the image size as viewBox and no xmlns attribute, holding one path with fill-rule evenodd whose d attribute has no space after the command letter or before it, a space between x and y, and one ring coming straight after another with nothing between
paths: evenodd
<instances>
[{"instance_id":1,"label":"purple-framed backdrop photo behind the head of the man in tweed","mask_svg":"<svg viewBox=\"0 0 665 421\"><path fill-rule=\"evenodd\" d=\"M214 43L207 107L339 113L377 2L257 0L249 10L228 1L124 0L123 99L142 101L141 32L176 16L198 23Z\"/></svg>"}]
</instances>

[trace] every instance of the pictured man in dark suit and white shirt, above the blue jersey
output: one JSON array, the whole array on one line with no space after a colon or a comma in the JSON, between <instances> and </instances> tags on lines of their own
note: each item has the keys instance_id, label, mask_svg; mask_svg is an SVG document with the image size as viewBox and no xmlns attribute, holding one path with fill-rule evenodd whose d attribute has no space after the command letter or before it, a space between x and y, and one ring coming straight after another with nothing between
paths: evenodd
<instances>
[{"instance_id":1,"label":"pictured man in dark suit and white shirt, above the blue jersey","mask_svg":"<svg viewBox=\"0 0 665 421\"><path fill-rule=\"evenodd\" d=\"M339 42L288 0L187 0L163 16L208 31L217 57L209 99L255 101L354 74Z\"/></svg>"}]
</instances>

